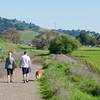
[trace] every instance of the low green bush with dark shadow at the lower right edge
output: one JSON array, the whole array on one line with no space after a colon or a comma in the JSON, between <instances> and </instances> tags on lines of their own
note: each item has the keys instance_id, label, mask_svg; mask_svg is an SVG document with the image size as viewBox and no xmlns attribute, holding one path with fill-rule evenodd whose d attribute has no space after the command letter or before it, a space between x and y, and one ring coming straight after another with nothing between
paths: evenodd
<instances>
[{"instance_id":1,"label":"low green bush with dark shadow at the lower right edge","mask_svg":"<svg viewBox=\"0 0 100 100\"><path fill-rule=\"evenodd\" d=\"M75 75L71 75L70 79L80 91L92 96L100 96L100 85L96 81L84 80Z\"/></svg>"}]
</instances>

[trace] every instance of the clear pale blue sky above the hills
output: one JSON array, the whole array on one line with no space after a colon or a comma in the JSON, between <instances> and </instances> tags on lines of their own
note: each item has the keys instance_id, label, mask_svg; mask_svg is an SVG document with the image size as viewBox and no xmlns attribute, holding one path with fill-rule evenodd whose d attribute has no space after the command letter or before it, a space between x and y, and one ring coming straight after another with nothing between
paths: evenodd
<instances>
[{"instance_id":1,"label":"clear pale blue sky above the hills","mask_svg":"<svg viewBox=\"0 0 100 100\"><path fill-rule=\"evenodd\" d=\"M100 0L0 0L0 16L48 29L100 33Z\"/></svg>"}]
</instances>

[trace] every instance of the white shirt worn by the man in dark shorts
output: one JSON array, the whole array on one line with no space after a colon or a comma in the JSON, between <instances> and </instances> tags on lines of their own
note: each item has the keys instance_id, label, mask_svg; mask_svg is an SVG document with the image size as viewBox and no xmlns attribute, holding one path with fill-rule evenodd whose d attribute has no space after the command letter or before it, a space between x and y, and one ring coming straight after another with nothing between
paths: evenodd
<instances>
[{"instance_id":1,"label":"white shirt worn by the man in dark shorts","mask_svg":"<svg viewBox=\"0 0 100 100\"><path fill-rule=\"evenodd\" d=\"M30 62L30 57L28 55L25 54L21 57L21 67L23 68L30 67L29 62Z\"/></svg>"}]
</instances>

